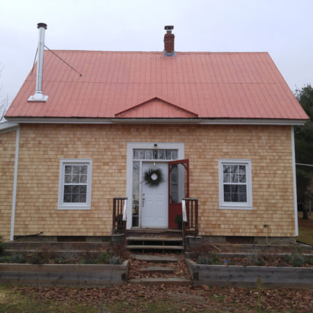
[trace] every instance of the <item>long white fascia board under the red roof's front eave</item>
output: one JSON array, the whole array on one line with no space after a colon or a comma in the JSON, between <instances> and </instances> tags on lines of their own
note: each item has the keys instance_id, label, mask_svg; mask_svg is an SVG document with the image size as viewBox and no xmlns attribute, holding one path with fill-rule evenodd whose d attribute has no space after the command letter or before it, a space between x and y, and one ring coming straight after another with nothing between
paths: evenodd
<instances>
[{"instance_id":1,"label":"long white fascia board under the red roof's front eave","mask_svg":"<svg viewBox=\"0 0 313 313\"><path fill-rule=\"evenodd\" d=\"M197 124L304 125L307 120L263 118L7 118L10 122L40 124Z\"/></svg>"}]
</instances>

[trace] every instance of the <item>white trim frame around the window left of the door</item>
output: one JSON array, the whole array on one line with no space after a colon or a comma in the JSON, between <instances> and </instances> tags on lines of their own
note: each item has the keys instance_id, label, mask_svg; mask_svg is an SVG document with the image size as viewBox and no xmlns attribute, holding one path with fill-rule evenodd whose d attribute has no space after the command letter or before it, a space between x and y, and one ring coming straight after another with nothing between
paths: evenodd
<instances>
[{"instance_id":1,"label":"white trim frame around the window left of the door","mask_svg":"<svg viewBox=\"0 0 313 313\"><path fill-rule=\"evenodd\" d=\"M87 165L87 194L86 203L65 203L64 193L64 170L65 165ZM89 210L91 203L91 177L93 174L93 159L60 159L60 172L58 177L58 209L59 210Z\"/></svg>"}]
</instances>

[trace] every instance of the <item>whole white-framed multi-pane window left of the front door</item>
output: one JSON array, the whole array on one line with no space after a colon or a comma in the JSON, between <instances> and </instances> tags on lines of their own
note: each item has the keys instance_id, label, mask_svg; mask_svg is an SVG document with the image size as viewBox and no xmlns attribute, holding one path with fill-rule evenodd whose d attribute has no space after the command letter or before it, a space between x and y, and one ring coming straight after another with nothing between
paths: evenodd
<instances>
[{"instance_id":1,"label":"whole white-framed multi-pane window left of the front door","mask_svg":"<svg viewBox=\"0 0 313 313\"><path fill-rule=\"evenodd\" d=\"M61 159L58 209L90 209L91 159Z\"/></svg>"}]
</instances>

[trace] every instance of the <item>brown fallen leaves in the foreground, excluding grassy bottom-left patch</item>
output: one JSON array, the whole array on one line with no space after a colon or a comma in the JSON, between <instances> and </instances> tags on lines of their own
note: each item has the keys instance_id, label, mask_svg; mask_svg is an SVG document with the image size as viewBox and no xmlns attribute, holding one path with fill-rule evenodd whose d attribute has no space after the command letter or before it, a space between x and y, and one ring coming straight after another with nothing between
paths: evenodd
<instances>
[{"instance_id":1,"label":"brown fallen leaves in the foreground, excluding grassy bottom-left patch","mask_svg":"<svg viewBox=\"0 0 313 313\"><path fill-rule=\"evenodd\" d=\"M9 288L9 287L8 287ZM12 288L13 289L13 288ZM74 301L81 305L128 303L143 312L145 305L164 301L180 312L223 310L232 312L265 311L313 312L313 293L304 289L248 289L236 287L144 286L124 284L111 288L15 287L37 300ZM172 311L171 311L172 312Z\"/></svg>"}]
</instances>

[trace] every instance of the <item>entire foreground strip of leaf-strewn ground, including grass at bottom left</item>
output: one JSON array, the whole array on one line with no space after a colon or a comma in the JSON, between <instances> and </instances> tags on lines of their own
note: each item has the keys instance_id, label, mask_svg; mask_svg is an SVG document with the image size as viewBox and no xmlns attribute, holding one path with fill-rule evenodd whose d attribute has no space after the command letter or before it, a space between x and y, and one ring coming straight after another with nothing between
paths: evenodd
<instances>
[{"instance_id":1,"label":"entire foreground strip of leaf-strewn ground, including grass at bottom left","mask_svg":"<svg viewBox=\"0 0 313 313\"><path fill-rule=\"evenodd\" d=\"M312 290L143 286L0 287L0 312L313 312Z\"/></svg>"}]
</instances>

